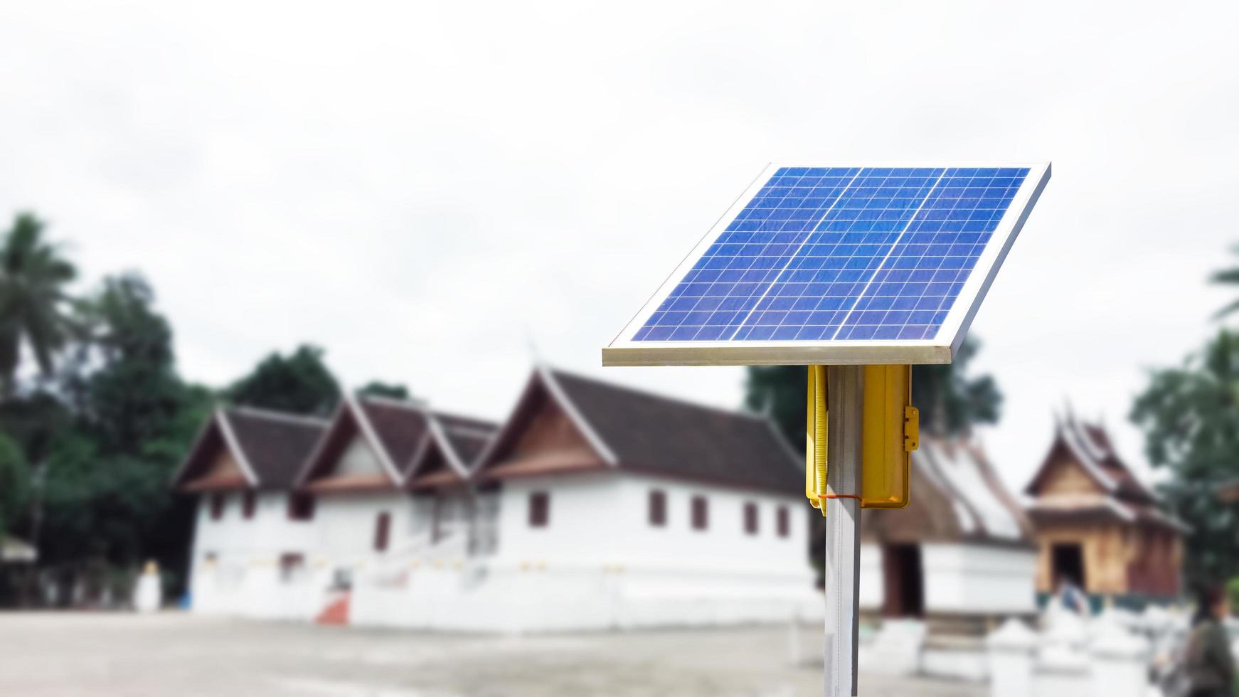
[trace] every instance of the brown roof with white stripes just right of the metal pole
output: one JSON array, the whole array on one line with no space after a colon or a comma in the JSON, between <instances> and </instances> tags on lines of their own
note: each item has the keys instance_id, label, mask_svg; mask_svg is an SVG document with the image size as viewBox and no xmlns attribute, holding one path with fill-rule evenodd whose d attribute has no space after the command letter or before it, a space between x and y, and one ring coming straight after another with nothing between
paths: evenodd
<instances>
[{"instance_id":1,"label":"brown roof with white stripes just right of the metal pole","mask_svg":"<svg viewBox=\"0 0 1239 697\"><path fill-rule=\"evenodd\" d=\"M1032 526L980 444L922 435L912 453L911 500L866 510L861 535L886 542L1032 545Z\"/></svg>"}]
</instances>

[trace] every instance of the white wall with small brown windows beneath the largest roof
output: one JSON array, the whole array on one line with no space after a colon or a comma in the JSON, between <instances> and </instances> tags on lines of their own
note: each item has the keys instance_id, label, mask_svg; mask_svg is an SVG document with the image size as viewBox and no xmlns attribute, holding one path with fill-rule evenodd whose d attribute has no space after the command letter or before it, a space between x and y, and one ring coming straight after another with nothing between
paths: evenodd
<instances>
[{"instance_id":1,"label":"white wall with small brown windows beneath the largest roof","mask_svg":"<svg viewBox=\"0 0 1239 697\"><path fill-rule=\"evenodd\" d=\"M667 525L648 522L648 494L667 494ZM550 495L545 527L529 499ZM709 526L691 529L689 500L709 500ZM786 621L821 615L798 496L742 493L628 473L509 479L499 494L493 556L462 546L389 558L358 579L353 621L483 631ZM742 506L758 505L758 534ZM787 505L789 535L777 536ZM446 547L441 550L440 547Z\"/></svg>"}]
</instances>

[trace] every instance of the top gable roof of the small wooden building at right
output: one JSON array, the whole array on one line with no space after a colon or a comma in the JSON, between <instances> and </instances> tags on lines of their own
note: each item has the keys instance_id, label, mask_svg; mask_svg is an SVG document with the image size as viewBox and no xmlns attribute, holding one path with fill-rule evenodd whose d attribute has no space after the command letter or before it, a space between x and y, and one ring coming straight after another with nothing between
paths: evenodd
<instances>
[{"instance_id":1,"label":"top gable roof of the small wooden building at right","mask_svg":"<svg viewBox=\"0 0 1239 697\"><path fill-rule=\"evenodd\" d=\"M1058 452L1066 452L1106 494L1134 503L1151 504L1158 500L1157 494L1145 487L1119 458L1105 428L1078 421L1070 411L1063 417L1054 417L1054 441L1025 493L1032 496L1041 493Z\"/></svg>"}]
</instances>

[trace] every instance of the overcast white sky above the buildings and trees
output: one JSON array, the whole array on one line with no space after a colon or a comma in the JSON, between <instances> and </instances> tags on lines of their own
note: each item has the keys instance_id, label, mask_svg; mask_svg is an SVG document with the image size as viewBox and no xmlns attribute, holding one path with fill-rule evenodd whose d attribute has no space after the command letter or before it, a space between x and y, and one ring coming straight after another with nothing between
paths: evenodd
<instances>
[{"instance_id":1,"label":"overcast white sky above the buildings and trees","mask_svg":"<svg viewBox=\"0 0 1239 697\"><path fill-rule=\"evenodd\" d=\"M1053 161L983 306L1022 485L1067 401L1126 421L1228 298L1239 5L6 2L0 214L139 269L182 373L328 349L501 417L532 360L733 406L740 369L598 349L771 160Z\"/></svg>"}]
</instances>

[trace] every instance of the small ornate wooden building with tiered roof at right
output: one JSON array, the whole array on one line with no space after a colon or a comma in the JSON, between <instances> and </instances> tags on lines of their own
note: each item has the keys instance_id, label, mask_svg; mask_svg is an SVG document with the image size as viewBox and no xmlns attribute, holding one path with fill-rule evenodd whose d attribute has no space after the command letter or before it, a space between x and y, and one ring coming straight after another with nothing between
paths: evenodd
<instances>
[{"instance_id":1,"label":"small ornate wooden building with tiered roof at right","mask_svg":"<svg viewBox=\"0 0 1239 697\"><path fill-rule=\"evenodd\" d=\"M1059 418L1026 493L1037 531L1037 592L1063 581L1093 595L1132 599L1180 593L1186 526L1119 458L1100 426Z\"/></svg>"}]
</instances>

